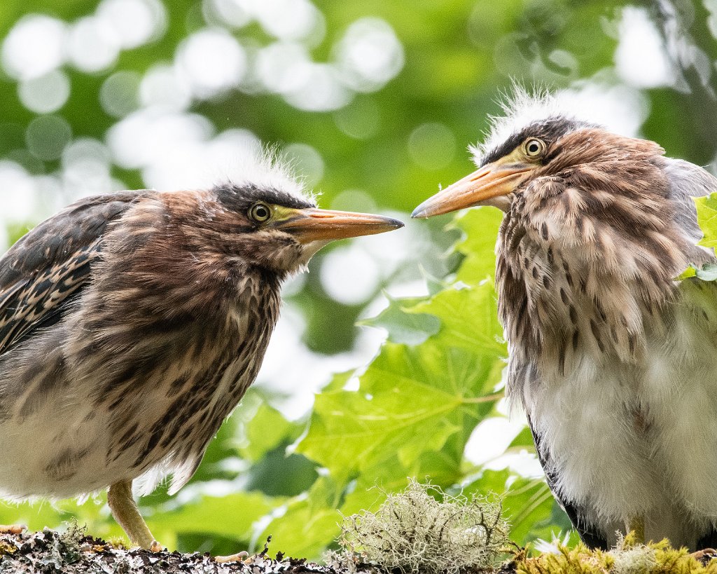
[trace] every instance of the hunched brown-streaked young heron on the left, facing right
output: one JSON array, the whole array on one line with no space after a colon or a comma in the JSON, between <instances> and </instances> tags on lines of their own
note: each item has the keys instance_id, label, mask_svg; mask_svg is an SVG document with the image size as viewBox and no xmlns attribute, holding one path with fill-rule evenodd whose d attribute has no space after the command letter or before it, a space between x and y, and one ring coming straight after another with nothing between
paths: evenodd
<instances>
[{"instance_id":1,"label":"hunched brown-streaked young heron on the left, facing right","mask_svg":"<svg viewBox=\"0 0 717 574\"><path fill-rule=\"evenodd\" d=\"M133 545L160 550L132 497L196 471L262 363L282 281L331 240L395 230L320 210L277 166L262 183L88 197L0 259L0 493L109 486ZM16 531L16 527L5 527Z\"/></svg>"}]
</instances>

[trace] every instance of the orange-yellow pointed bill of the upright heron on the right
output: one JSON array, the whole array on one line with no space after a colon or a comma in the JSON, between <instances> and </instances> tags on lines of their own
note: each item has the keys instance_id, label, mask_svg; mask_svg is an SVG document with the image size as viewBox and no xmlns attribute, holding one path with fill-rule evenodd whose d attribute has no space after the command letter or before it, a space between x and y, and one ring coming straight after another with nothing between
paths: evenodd
<instances>
[{"instance_id":1,"label":"orange-yellow pointed bill of the upright heron on the right","mask_svg":"<svg viewBox=\"0 0 717 574\"><path fill-rule=\"evenodd\" d=\"M513 192L533 168L531 164L505 165L500 160L494 161L426 199L411 217L432 217L495 201L494 198Z\"/></svg>"}]
</instances>

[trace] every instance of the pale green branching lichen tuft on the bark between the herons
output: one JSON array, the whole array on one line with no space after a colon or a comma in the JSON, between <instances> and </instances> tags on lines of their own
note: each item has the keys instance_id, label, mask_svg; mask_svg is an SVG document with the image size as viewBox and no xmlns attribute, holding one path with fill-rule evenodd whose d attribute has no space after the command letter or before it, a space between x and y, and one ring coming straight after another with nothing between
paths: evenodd
<instances>
[{"instance_id":1,"label":"pale green branching lichen tuft on the bark between the herons","mask_svg":"<svg viewBox=\"0 0 717 574\"><path fill-rule=\"evenodd\" d=\"M499 499L446 494L412 480L373 513L344 517L343 565L371 563L404 574L490 570L508 543ZM332 555L336 562L341 555ZM355 568L355 565L354 565Z\"/></svg>"}]
</instances>

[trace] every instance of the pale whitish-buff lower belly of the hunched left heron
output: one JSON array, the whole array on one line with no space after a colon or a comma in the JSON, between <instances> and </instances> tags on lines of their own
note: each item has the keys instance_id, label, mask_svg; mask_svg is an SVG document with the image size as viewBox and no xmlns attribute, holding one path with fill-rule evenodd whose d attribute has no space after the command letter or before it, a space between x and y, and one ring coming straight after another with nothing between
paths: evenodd
<instances>
[{"instance_id":1,"label":"pale whitish-buff lower belly of the hunched left heron","mask_svg":"<svg viewBox=\"0 0 717 574\"><path fill-rule=\"evenodd\" d=\"M101 381L77 385L98 388ZM151 426L170 408L161 385L128 393L120 410L132 410ZM156 448L138 466L143 443L133 441L113 450L116 436L105 403L59 385L37 400L29 413L0 420L0 497L76 497L104 489L123 479L135 479L160 464L171 447ZM140 428L141 431L141 428ZM140 436L148 433L140 432ZM115 440L113 440L115 439Z\"/></svg>"}]
</instances>

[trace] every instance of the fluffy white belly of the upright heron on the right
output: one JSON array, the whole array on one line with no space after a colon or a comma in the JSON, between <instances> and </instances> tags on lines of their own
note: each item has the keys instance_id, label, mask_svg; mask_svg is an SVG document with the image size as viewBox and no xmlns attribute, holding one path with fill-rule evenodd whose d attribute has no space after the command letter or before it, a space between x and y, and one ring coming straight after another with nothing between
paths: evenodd
<instances>
[{"instance_id":1,"label":"fluffy white belly of the upright heron on the right","mask_svg":"<svg viewBox=\"0 0 717 574\"><path fill-rule=\"evenodd\" d=\"M695 543L717 524L717 351L703 332L648 339L641 366L575 357L526 397L561 497L608 540L632 519L647 540Z\"/></svg>"}]
</instances>

